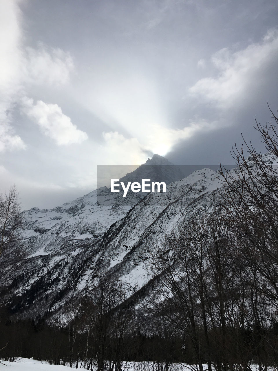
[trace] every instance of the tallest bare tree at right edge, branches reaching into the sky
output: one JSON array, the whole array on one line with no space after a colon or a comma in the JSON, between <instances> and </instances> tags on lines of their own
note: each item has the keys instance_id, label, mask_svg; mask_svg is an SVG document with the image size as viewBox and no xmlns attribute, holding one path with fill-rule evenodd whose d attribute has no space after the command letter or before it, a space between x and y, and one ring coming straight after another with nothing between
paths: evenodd
<instances>
[{"instance_id":1,"label":"tallest bare tree at right edge, branches reaching into the sky","mask_svg":"<svg viewBox=\"0 0 278 371\"><path fill-rule=\"evenodd\" d=\"M225 171L220 191L229 224L236 232L238 256L252 308L252 334L259 370L266 369L272 352L267 328L274 325L278 312L278 117L273 122L254 125L268 151L262 155L244 139L244 147L233 148L238 167ZM274 354L272 352L272 354ZM277 354L277 351L276 351ZM277 364L277 355L274 359Z\"/></svg>"}]
</instances>

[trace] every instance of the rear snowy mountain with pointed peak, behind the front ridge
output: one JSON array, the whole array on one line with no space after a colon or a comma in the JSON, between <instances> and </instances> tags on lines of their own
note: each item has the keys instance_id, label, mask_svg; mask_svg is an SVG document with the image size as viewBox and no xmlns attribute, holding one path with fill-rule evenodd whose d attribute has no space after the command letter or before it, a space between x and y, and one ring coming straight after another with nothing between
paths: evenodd
<instances>
[{"instance_id":1,"label":"rear snowy mountain with pointed peak, behind the front ridge","mask_svg":"<svg viewBox=\"0 0 278 371\"><path fill-rule=\"evenodd\" d=\"M168 184L182 177L178 167L155 154L120 181L126 183L151 178L152 181L165 181ZM29 257L47 255L63 246L73 247L88 239L93 243L113 223L122 219L146 193L129 192L125 198L122 196L122 189L119 193L111 193L109 188L102 187L54 209L33 207L24 211L24 247Z\"/></svg>"}]
</instances>

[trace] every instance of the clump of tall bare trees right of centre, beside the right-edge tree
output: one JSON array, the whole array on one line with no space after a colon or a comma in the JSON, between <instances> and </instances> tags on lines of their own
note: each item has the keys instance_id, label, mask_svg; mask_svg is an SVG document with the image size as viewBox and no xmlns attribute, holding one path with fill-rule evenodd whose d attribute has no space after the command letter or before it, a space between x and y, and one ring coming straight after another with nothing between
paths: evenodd
<instances>
[{"instance_id":1,"label":"clump of tall bare trees right of centre, beside the right-edge tree","mask_svg":"<svg viewBox=\"0 0 278 371\"><path fill-rule=\"evenodd\" d=\"M252 361L250 292L226 218L221 207L192 214L155 247L149 265L159 283L147 309L185 336L185 358L200 371L247 370Z\"/></svg>"}]
</instances>

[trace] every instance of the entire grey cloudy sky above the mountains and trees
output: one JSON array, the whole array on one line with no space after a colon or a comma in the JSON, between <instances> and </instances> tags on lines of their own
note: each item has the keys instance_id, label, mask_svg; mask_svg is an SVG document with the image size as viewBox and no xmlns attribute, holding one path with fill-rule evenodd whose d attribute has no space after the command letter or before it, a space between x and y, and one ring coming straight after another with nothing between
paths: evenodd
<instances>
[{"instance_id":1,"label":"entire grey cloudy sky above the mountains and trees","mask_svg":"<svg viewBox=\"0 0 278 371\"><path fill-rule=\"evenodd\" d=\"M278 108L277 0L1 0L0 193L53 207L97 165L232 163Z\"/></svg>"}]
</instances>

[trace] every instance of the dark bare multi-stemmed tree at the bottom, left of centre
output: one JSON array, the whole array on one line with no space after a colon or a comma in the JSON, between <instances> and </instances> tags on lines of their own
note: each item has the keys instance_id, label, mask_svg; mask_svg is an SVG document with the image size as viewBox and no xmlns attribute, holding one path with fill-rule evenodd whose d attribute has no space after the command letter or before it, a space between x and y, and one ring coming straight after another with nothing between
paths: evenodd
<instances>
[{"instance_id":1,"label":"dark bare multi-stemmed tree at the bottom, left of centre","mask_svg":"<svg viewBox=\"0 0 278 371\"><path fill-rule=\"evenodd\" d=\"M92 348L86 351L91 359L88 369L92 368L92 364L97 366L97 371L120 371L126 367L123 357L127 352L132 321L132 313L123 306L127 297L120 279L111 278L107 273L99 278L87 313L89 341L92 344Z\"/></svg>"}]
</instances>

